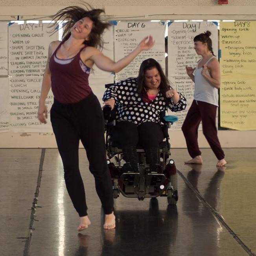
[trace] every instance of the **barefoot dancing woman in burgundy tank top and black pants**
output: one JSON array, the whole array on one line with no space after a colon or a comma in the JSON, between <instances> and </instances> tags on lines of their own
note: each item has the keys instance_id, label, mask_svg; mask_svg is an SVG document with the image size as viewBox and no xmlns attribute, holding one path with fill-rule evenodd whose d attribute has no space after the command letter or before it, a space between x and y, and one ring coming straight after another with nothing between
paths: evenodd
<instances>
[{"instance_id":1,"label":"barefoot dancing woman in burgundy tank top and black pants","mask_svg":"<svg viewBox=\"0 0 256 256\"><path fill-rule=\"evenodd\" d=\"M88 6L88 7L87 7ZM64 179L68 194L80 217L81 231L88 228L85 190L79 171L78 148L81 140L87 153L90 172L105 212L106 229L115 228L112 182L107 166L103 114L98 99L88 84L90 69L95 63L108 72L119 72L142 50L154 45L151 36L145 37L129 55L117 62L104 56L102 33L110 25L100 20L102 9L70 6L57 12L53 20L66 20L63 41L49 45L44 71L38 119L46 123L45 99L52 88L54 103L50 117L59 153L63 161ZM55 26L55 25L53 25ZM56 27L53 28L53 31Z\"/></svg>"}]
</instances>

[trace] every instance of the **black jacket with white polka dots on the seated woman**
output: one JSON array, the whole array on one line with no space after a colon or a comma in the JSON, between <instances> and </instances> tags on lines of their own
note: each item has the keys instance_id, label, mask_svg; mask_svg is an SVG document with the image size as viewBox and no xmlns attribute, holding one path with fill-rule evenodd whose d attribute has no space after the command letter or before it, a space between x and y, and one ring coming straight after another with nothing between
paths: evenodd
<instances>
[{"instance_id":1,"label":"black jacket with white polka dots on the seated woman","mask_svg":"<svg viewBox=\"0 0 256 256\"><path fill-rule=\"evenodd\" d=\"M169 108L173 112L182 111L186 108L186 98L179 93L180 100L177 104L169 100L169 105L158 92L157 97L150 102L145 102L137 93L136 78L128 78L107 88L103 95L103 101L114 99L117 121L131 121L136 125L144 122L160 123L160 112Z\"/></svg>"}]
</instances>

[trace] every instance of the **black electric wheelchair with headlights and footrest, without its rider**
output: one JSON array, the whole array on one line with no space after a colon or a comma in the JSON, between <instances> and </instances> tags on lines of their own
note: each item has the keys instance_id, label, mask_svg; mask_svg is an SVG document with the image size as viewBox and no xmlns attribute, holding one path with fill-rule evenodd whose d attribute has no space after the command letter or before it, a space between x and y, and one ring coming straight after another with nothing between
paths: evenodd
<instances>
[{"instance_id":1,"label":"black electric wheelchair with headlights and footrest, without its rider","mask_svg":"<svg viewBox=\"0 0 256 256\"><path fill-rule=\"evenodd\" d=\"M112 84L107 84L109 87ZM145 151L137 145L138 172L124 171L122 149L112 140L111 133L116 123L115 109L111 110L109 105L103 107L106 132L107 164L111 174L114 198L118 198L120 193L125 197L138 198L144 200L147 197L167 197L168 204L176 204L178 201L177 171L171 155L168 128L177 121L176 116L165 116L165 111L161 113L161 126L164 134L164 141L160 143L160 162L162 171L151 172L145 157Z\"/></svg>"}]
</instances>

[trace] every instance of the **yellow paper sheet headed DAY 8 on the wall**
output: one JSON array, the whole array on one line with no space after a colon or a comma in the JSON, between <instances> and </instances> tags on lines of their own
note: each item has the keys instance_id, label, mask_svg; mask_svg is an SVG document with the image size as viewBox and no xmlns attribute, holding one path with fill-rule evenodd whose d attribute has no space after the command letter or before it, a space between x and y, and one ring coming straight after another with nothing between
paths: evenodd
<instances>
[{"instance_id":1,"label":"yellow paper sheet headed DAY 8 on the wall","mask_svg":"<svg viewBox=\"0 0 256 256\"><path fill-rule=\"evenodd\" d=\"M256 129L256 21L220 22L221 127Z\"/></svg>"}]
</instances>

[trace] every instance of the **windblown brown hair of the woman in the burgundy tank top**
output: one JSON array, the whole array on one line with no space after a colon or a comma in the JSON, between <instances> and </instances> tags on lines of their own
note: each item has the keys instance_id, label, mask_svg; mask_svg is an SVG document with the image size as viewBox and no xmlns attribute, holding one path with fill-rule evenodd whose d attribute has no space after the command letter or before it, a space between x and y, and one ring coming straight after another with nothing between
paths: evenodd
<instances>
[{"instance_id":1,"label":"windblown brown hair of the woman in the burgundy tank top","mask_svg":"<svg viewBox=\"0 0 256 256\"><path fill-rule=\"evenodd\" d=\"M63 20L66 24L63 26L63 36L62 40L67 40L71 35L71 28L74 24L81 20L82 18L88 17L92 20L93 26L89 35L89 40L85 40L84 44L88 46L93 46L96 48L103 48L103 31L110 26L107 22L102 22L100 19L101 13L105 13L103 9L93 9L89 4L84 4L86 9L79 6L68 6L64 9L59 10L52 20ZM53 24L52 33L54 29L57 28L57 24Z\"/></svg>"}]
</instances>

